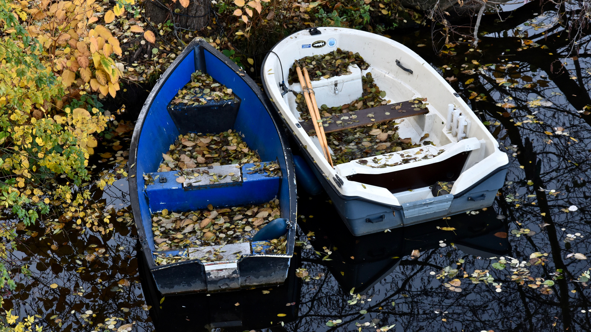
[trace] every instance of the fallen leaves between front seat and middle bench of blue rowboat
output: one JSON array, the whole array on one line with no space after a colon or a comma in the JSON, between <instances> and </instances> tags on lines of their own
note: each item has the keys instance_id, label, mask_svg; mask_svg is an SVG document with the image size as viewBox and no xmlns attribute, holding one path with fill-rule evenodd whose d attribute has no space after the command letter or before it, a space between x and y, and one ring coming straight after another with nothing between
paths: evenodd
<instances>
[{"instance_id":1,"label":"fallen leaves between front seat and middle bench of blue rowboat","mask_svg":"<svg viewBox=\"0 0 591 332\"><path fill-rule=\"evenodd\" d=\"M164 160L158 172L260 161L258 153L249 149L241 136L232 132L232 129L217 135L179 135L177 141L170 145L170 151L162 154L162 157Z\"/></svg>"}]
</instances>

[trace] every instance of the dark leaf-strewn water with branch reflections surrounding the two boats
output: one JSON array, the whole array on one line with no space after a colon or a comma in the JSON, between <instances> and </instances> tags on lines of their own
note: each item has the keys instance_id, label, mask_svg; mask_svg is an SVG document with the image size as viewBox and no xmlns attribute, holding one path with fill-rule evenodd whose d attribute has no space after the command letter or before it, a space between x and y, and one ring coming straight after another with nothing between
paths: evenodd
<instances>
[{"instance_id":1,"label":"dark leaf-strewn water with branch reflections surrounding the two boats","mask_svg":"<svg viewBox=\"0 0 591 332\"><path fill-rule=\"evenodd\" d=\"M56 214L20 230L37 233L11 258L26 263L31 276L5 295L4 308L37 314L53 331L117 330L132 322L134 331L591 330L591 117L583 110L591 104L589 38L577 44L578 58L566 57L572 36L556 24L555 11L540 15L531 4L504 22L487 15L481 52L444 46L439 26L389 32L457 79L454 89L508 152L506 184L486 211L355 238L326 197L300 190L298 224L307 243L285 285L158 304L148 289L142 294L126 179L105 191L88 184L88 207L121 221L105 235L81 235L75 219ZM118 139L128 149L129 132ZM105 143L98 154L114 155ZM98 160L91 161L94 180L113 171L111 160ZM327 251L331 260L323 261ZM307 280L296 276L306 272ZM150 311L142 308L145 297L155 298Z\"/></svg>"}]
</instances>

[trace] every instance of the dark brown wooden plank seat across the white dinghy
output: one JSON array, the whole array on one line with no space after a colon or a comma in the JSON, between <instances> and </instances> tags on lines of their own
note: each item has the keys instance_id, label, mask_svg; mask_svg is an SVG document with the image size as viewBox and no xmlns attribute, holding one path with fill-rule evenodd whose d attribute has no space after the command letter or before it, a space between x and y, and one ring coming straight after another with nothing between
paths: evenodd
<instances>
[{"instance_id":1,"label":"dark brown wooden plank seat across the white dinghy","mask_svg":"<svg viewBox=\"0 0 591 332\"><path fill-rule=\"evenodd\" d=\"M417 103L415 103L415 100ZM343 129L358 128L374 123L392 121L396 119L408 118L410 116L427 114L429 111L421 99L408 100L406 102L392 103L388 105L376 106L356 110L355 112L346 112L334 116L323 116L322 123L324 132L335 132ZM368 116L370 115L370 116ZM306 132L314 133L314 125L311 120L300 121L300 125Z\"/></svg>"}]
</instances>

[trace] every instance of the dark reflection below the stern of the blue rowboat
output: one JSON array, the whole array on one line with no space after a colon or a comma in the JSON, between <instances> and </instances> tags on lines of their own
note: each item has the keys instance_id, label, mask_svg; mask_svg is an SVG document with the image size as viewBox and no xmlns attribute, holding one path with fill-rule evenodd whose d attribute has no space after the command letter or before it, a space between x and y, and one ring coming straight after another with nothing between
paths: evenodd
<instances>
[{"instance_id":1,"label":"dark reflection below the stern of the blue rowboat","mask_svg":"<svg viewBox=\"0 0 591 332\"><path fill-rule=\"evenodd\" d=\"M139 261L139 260L138 260ZM242 332L272 327L296 320L301 279L294 275L297 258L282 285L210 294L168 295L164 301L151 278L141 269L142 288L150 317L158 332Z\"/></svg>"}]
</instances>

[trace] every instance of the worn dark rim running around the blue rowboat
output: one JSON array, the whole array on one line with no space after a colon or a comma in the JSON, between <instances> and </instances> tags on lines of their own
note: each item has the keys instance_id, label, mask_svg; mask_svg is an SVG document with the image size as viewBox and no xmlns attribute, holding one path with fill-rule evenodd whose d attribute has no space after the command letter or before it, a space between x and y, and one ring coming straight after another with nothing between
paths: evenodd
<instances>
[{"instance_id":1,"label":"worn dark rim running around the blue rowboat","mask_svg":"<svg viewBox=\"0 0 591 332\"><path fill-rule=\"evenodd\" d=\"M129 170L128 170L128 173L129 173L128 184L129 184L129 188L131 188L131 190L129 190L129 198L131 200L132 213L134 215L134 222L135 222L135 226L136 226L137 232L138 232L138 243L141 246L141 249L138 251L143 252L144 258L145 258L146 262L148 263L148 269L150 269L150 271L158 271L161 269L171 268L173 266L184 265L184 264L188 264L188 263L199 263L201 265L206 265L205 263L201 262L199 259L187 259L186 261L174 262L174 263L170 263L170 264L166 264L166 265L156 265L155 264L154 255L152 254L152 250L150 250L150 246L148 245L147 233L145 232L144 223L142 222L141 211L139 208L139 193L137 190L137 185L138 185L138 183L137 183L137 177L138 177L137 167L134 167L135 164L137 163L139 137L141 136L141 132L142 132L142 129L144 126L145 119L147 118L148 113L150 112L150 109L152 107L152 103L154 102L155 96L157 96L158 93L160 93L161 88L164 86L164 83L167 82L170 75L174 72L174 70L177 69L177 67L181 64L181 62L183 62L184 58L186 58L191 53L191 51L194 50L194 48L197 45L202 45L205 50L209 51L210 54L212 54L218 60L222 61L222 63L226 64L226 66L230 67L230 69L232 69L238 77L241 77L241 79L251 88L252 92L254 92L255 95L258 97L258 99L261 101L262 105L267 110L267 113L268 113L269 117L271 118L273 125L275 126L275 129L276 129L277 134L280 139L283 157L285 158L285 168L286 168L285 173L286 174L282 175L281 181L287 181L287 185L288 185L288 196L289 196L288 199L290 200L290 204L289 204L290 211L288 211L287 216L289 216L289 219L293 221L293 225L294 225L292 227L293 229L291 230L291 233L293 236L288 236L287 240L289 241L290 237L293 237L293 239L291 239L291 240L293 240L293 242L295 244L295 237L296 237L296 232L297 232L297 222L296 222L296 220L297 220L297 202L296 202L297 192L296 192L296 179L295 179L295 169L294 169L294 165L293 165L293 156L291 155L291 148L288 145L288 139L285 136L284 132L282 132L282 130L280 128L280 123L278 123L277 120L275 119L274 113L271 112L271 107L269 106L270 105L269 98L267 97L267 95L265 93L262 92L260 87L254 82L254 80L250 76L248 76L248 74L241 72L242 70L240 69L240 67L238 67L238 65L236 63L234 63L232 60L230 60L230 58L224 56L221 52L219 52L215 48L213 48L202 37L196 37L187 45L187 47L181 52L181 54L176 57L174 62L164 71L164 73L160 76L160 78L158 78L156 84L152 87L152 90L151 90L150 94L148 95L146 102L144 103L141 111L139 112L138 119L135 122L134 132L132 134L131 145L129 148L130 155L129 155L128 164L131 164L131 167L129 167ZM138 128L138 125L139 125L139 128ZM139 220L139 222L138 222L138 220ZM290 231L288 230L287 235L289 235L289 234L290 234ZM186 249L184 249L184 250L186 250ZM178 251L184 251L184 250L178 250ZM271 258L291 258L291 257L293 257L294 248L287 248L286 250L287 250L287 252L285 254L279 254L279 255L274 255L274 254L244 255L241 259L238 260L238 262L242 261L244 258L249 258L249 257L271 257ZM289 254L290 251L291 251L291 254Z\"/></svg>"}]
</instances>

